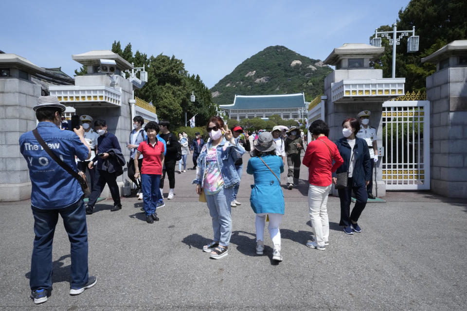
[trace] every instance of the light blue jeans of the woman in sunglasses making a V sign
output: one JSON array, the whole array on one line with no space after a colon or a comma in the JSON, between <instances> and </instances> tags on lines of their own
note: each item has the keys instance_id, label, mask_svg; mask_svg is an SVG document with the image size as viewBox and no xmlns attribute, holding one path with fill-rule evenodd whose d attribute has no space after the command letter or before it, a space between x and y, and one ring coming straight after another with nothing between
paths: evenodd
<instances>
[{"instance_id":1,"label":"light blue jeans of the woman in sunglasses making a V sign","mask_svg":"<svg viewBox=\"0 0 467 311\"><path fill-rule=\"evenodd\" d=\"M221 246L229 246L232 234L231 197L232 188L222 188L222 190L215 194L206 193L209 215L213 219L213 241L219 241L219 245Z\"/></svg>"}]
</instances>

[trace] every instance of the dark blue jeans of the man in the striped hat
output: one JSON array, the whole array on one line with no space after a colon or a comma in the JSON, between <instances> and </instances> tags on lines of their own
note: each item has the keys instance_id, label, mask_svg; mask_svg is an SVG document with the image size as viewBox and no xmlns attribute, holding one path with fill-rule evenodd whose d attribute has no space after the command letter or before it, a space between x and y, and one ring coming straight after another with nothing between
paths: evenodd
<instances>
[{"instance_id":1,"label":"dark blue jeans of the man in the striped hat","mask_svg":"<svg viewBox=\"0 0 467 311\"><path fill-rule=\"evenodd\" d=\"M58 214L68 233L71 244L72 281L70 287L80 288L88 282L88 227L86 211L82 199L60 209L41 209L31 207L34 216L33 256L31 258L32 291L52 288L52 243Z\"/></svg>"}]
</instances>

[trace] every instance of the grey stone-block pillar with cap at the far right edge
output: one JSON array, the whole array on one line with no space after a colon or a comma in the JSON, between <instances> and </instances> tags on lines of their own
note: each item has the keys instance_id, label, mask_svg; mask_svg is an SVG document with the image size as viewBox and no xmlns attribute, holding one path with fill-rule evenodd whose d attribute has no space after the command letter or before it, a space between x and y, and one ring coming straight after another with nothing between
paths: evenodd
<instances>
[{"instance_id":1,"label":"grey stone-block pillar with cap at the far right edge","mask_svg":"<svg viewBox=\"0 0 467 311\"><path fill-rule=\"evenodd\" d=\"M422 58L427 62L436 64L427 77L431 191L467 198L467 40L452 41Z\"/></svg>"}]
</instances>

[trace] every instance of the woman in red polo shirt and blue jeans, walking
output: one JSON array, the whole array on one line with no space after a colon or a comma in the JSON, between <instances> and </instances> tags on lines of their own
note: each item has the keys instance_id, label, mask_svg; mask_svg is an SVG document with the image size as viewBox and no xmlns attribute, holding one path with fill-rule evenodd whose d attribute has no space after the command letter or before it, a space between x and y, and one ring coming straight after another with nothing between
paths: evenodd
<instances>
[{"instance_id":1,"label":"woman in red polo shirt and blue jeans, walking","mask_svg":"<svg viewBox=\"0 0 467 311\"><path fill-rule=\"evenodd\" d=\"M138 158L143 155L143 165L141 168L141 188L143 190L143 209L146 213L148 224L158 221L156 214L159 183L161 181L162 166L164 165L164 144L158 142L156 135L159 133L159 124L150 121L144 127L147 139L138 146L135 155L135 178L138 178Z\"/></svg>"}]
</instances>

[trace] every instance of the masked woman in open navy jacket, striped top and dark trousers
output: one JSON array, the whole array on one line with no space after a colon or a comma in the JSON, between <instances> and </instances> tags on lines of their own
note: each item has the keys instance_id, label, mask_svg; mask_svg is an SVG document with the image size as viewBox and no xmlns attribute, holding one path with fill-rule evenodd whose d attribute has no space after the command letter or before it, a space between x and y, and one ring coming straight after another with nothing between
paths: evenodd
<instances>
[{"instance_id":1,"label":"masked woman in open navy jacket, striped top and dark trousers","mask_svg":"<svg viewBox=\"0 0 467 311\"><path fill-rule=\"evenodd\" d=\"M341 199L341 222L344 226L344 232L353 234L361 232L358 220L361 212L366 206L368 185L371 176L371 158L366 141L356 137L360 124L355 118L347 118L342 122L343 138L336 141L337 149L341 154L344 163L339 167L336 173L349 172L347 188L339 189L339 198ZM333 173L332 181L337 181L336 173ZM350 203L352 190L356 195L352 213L350 213ZM353 229L353 231L352 231Z\"/></svg>"}]
</instances>

